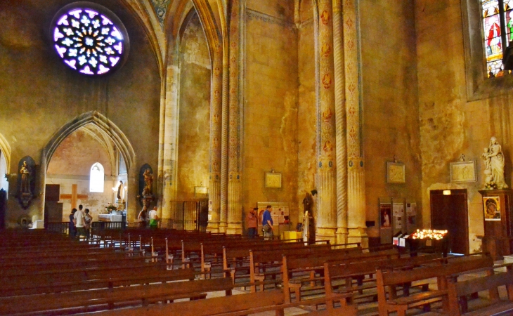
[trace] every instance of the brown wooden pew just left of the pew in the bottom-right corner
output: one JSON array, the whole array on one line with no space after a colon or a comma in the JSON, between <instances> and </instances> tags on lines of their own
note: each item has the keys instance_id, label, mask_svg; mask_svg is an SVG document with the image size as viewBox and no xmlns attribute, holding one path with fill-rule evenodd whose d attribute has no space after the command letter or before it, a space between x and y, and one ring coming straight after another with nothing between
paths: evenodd
<instances>
[{"instance_id":1,"label":"brown wooden pew just left of the pew in the bottom-right corner","mask_svg":"<svg viewBox=\"0 0 513 316\"><path fill-rule=\"evenodd\" d=\"M493 259L490 257L465 258L465 260L454 260L443 265L434 265L427 268L416 268L413 270L377 270L377 297L379 315L389 315L389 312L397 312L398 316L404 316L410 308L429 308L431 303L441 300L447 301L446 277L458 272L489 268L493 266ZM399 298L396 287L409 282L420 281L436 277L438 289L436 291L421 292L410 296ZM387 293L388 291L388 298Z\"/></svg>"}]
</instances>

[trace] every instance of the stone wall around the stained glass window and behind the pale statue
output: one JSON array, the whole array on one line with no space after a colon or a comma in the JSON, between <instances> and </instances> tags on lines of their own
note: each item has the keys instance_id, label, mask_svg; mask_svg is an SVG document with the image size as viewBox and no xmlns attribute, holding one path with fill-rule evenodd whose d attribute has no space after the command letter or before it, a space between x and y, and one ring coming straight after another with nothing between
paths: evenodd
<instances>
[{"instance_id":1,"label":"stone wall around the stained glass window and behind the pale statue","mask_svg":"<svg viewBox=\"0 0 513 316\"><path fill-rule=\"evenodd\" d=\"M506 183L511 185L513 131L509 112L513 93L511 89L497 89L490 97L467 101L472 97L466 91L465 63L469 60L460 1L417 1L415 16L424 225L429 225L431 218L430 190L467 189L469 246L471 252L479 251L481 242L476 235L483 235L483 204L477 192L484 185L481 154L491 136L496 136L505 152ZM481 36L479 29L474 31L475 37ZM484 80L495 80L493 86L499 86L503 79ZM476 160L476 183L450 183L449 163L456 162L460 154Z\"/></svg>"}]
</instances>

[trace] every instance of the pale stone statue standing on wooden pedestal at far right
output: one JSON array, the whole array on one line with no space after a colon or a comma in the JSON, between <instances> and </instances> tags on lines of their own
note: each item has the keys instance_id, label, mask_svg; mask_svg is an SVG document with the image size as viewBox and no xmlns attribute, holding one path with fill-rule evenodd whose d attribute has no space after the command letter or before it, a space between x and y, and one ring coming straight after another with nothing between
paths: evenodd
<instances>
[{"instance_id":1,"label":"pale stone statue standing on wooden pedestal at far right","mask_svg":"<svg viewBox=\"0 0 513 316\"><path fill-rule=\"evenodd\" d=\"M502 147L497 142L497 138L490 139L490 145L484 148L481 157L485 165L485 188L491 189L506 189L507 184L504 178L504 165L505 159L502 153Z\"/></svg>"}]
</instances>

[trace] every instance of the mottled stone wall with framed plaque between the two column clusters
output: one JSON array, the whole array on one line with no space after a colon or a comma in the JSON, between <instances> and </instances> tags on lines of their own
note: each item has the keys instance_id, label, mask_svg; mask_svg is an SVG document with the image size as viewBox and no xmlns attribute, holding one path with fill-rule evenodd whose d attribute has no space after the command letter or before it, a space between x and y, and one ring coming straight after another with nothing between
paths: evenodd
<instances>
[{"instance_id":1,"label":"mottled stone wall with framed plaque between the two column clusters","mask_svg":"<svg viewBox=\"0 0 513 316\"><path fill-rule=\"evenodd\" d=\"M287 202L297 223L297 29L294 1L246 1L242 104L242 216L257 202ZM282 173L280 189L264 173Z\"/></svg>"}]
</instances>

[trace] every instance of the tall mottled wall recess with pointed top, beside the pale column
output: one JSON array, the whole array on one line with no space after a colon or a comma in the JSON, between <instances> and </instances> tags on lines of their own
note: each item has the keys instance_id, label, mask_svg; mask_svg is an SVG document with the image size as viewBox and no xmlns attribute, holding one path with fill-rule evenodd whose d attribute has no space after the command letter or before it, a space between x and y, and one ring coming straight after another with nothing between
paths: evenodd
<instances>
[{"instance_id":1,"label":"tall mottled wall recess with pointed top, beside the pale column","mask_svg":"<svg viewBox=\"0 0 513 316\"><path fill-rule=\"evenodd\" d=\"M193 199L195 186L209 185L210 58L196 14L180 44L177 199Z\"/></svg>"}]
</instances>

